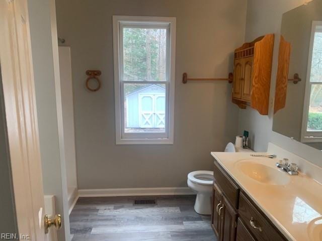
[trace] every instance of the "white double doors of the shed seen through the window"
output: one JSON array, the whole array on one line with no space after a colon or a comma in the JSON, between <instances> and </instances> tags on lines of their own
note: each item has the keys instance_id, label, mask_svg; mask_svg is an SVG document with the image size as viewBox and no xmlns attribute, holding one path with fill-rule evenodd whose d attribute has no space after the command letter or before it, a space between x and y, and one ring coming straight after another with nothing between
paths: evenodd
<instances>
[{"instance_id":1,"label":"white double doors of the shed seen through the window","mask_svg":"<svg viewBox=\"0 0 322 241\"><path fill-rule=\"evenodd\" d=\"M164 94L139 94L140 128L165 128L166 97Z\"/></svg>"}]
</instances>

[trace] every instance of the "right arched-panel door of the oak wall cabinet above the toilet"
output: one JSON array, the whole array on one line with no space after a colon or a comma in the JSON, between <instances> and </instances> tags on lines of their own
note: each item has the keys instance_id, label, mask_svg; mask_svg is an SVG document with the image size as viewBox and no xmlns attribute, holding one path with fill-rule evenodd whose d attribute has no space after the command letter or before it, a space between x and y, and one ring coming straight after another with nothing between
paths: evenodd
<instances>
[{"instance_id":1,"label":"right arched-panel door of the oak wall cabinet above the toilet","mask_svg":"<svg viewBox=\"0 0 322 241\"><path fill-rule=\"evenodd\" d=\"M244 59L241 99L251 101L254 57Z\"/></svg>"}]
</instances>

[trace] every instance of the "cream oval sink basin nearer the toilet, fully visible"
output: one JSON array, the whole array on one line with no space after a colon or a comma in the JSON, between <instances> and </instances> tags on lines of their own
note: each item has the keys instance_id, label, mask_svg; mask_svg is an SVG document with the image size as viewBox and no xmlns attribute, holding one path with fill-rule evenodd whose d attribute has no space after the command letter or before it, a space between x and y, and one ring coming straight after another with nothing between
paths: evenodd
<instances>
[{"instance_id":1,"label":"cream oval sink basin nearer the toilet, fully visible","mask_svg":"<svg viewBox=\"0 0 322 241\"><path fill-rule=\"evenodd\" d=\"M240 160L235 165L240 172L263 184L286 185L290 181L286 172L258 163L258 160Z\"/></svg>"}]
</instances>

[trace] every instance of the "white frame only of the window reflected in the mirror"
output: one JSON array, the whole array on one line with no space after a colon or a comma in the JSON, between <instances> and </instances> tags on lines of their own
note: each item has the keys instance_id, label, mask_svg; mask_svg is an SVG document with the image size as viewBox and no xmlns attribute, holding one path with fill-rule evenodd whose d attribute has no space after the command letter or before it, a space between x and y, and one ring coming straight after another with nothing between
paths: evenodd
<instances>
[{"instance_id":1,"label":"white frame only of the window reflected in the mirror","mask_svg":"<svg viewBox=\"0 0 322 241\"><path fill-rule=\"evenodd\" d=\"M320 131L308 132L307 131L307 121L308 121L308 110L309 110L309 103L310 103L311 85L316 84L316 83L321 84L320 82L310 82L314 35L316 32L317 26L322 26L322 21L312 21L311 37L310 37L310 45L309 45L308 61L307 61L307 71L306 71L303 117L302 117L302 130L301 130L301 142L302 143L322 142L322 132L320 132Z\"/></svg>"}]
</instances>

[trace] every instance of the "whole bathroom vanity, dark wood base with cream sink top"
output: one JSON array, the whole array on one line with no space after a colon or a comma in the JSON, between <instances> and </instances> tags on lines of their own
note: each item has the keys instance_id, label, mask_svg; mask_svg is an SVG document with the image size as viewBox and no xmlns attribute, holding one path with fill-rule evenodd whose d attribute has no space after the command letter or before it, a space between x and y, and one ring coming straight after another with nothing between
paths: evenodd
<instances>
[{"instance_id":1,"label":"whole bathroom vanity, dark wood base with cream sink top","mask_svg":"<svg viewBox=\"0 0 322 241\"><path fill-rule=\"evenodd\" d=\"M219 241L322 240L322 185L308 174L315 167L291 176L276 167L278 159L211 155L211 225Z\"/></svg>"}]
</instances>

